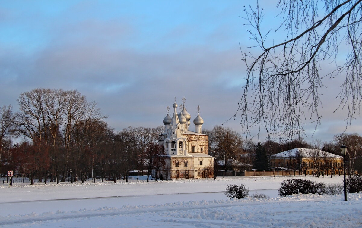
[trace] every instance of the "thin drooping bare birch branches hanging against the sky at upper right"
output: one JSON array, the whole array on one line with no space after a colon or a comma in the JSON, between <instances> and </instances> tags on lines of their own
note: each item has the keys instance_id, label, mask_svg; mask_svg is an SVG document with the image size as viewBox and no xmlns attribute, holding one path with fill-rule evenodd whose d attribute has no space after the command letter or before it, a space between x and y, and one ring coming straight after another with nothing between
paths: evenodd
<instances>
[{"instance_id":1,"label":"thin drooping bare birch branches hanging against the sky at upper right","mask_svg":"<svg viewBox=\"0 0 362 228\"><path fill-rule=\"evenodd\" d=\"M241 50L247 65L239 103L245 133L258 127L269 137L286 140L306 135L304 126L320 124L320 89L325 79L343 77L338 108L347 125L359 115L362 94L362 0L279 0L285 40L262 31L262 8L245 8L253 51ZM274 41L277 44L274 44ZM257 48L257 50L254 50ZM322 69L328 73L321 74Z\"/></svg>"}]
</instances>

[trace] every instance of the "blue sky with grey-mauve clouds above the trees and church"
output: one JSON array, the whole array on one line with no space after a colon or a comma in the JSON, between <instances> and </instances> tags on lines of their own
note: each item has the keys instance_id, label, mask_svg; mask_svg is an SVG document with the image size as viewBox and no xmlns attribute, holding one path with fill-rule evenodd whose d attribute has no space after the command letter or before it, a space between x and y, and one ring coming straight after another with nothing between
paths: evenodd
<instances>
[{"instance_id":1,"label":"blue sky with grey-mauve clouds above the trees and church","mask_svg":"<svg viewBox=\"0 0 362 228\"><path fill-rule=\"evenodd\" d=\"M240 47L253 45L250 28L239 18L245 4L5 1L0 5L0 105L11 104L16 111L19 94L37 87L76 89L121 130L161 125L174 97L180 104L185 96L191 120L199 105L203 128L211 129L234 115L241 97ZM261 4L266 17L278 13L274 3ZM264 26L274 23L268 19ZM334 91L327 93L335 96ZM327 104L315 138L330 141L346 123L343 112L333 114L337 106ZM226 126L240 131L240 119ZM357 120L348 132L361 129Z\"/></svg>"}]
</instances>

